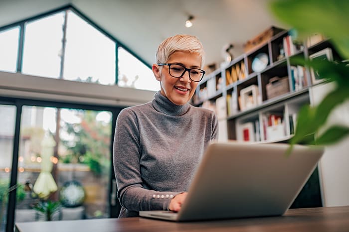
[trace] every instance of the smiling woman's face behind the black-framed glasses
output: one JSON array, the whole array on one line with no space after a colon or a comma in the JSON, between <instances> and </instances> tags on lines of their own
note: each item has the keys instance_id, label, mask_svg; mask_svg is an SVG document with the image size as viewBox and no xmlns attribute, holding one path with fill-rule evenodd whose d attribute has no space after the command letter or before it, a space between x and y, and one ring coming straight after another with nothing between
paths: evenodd
<instances>
[{"instance_id":1,"label":"smiling woman's face behind the black-framed glasses","mask_svg":"<svg viewBox=\"0 0 349 232\"><path fill-rule=\"evenodd\" d=\"M197 53L174 52L166 63L176 63L186 68L200 68L201 58ZM169 73L169 66L153 64L153 72L161 85L161 94L167 97L175 105L184 105L195 93L198 82L189 79L186 71L180 78L172 77Z\"/></svg>"}]
</instances>

